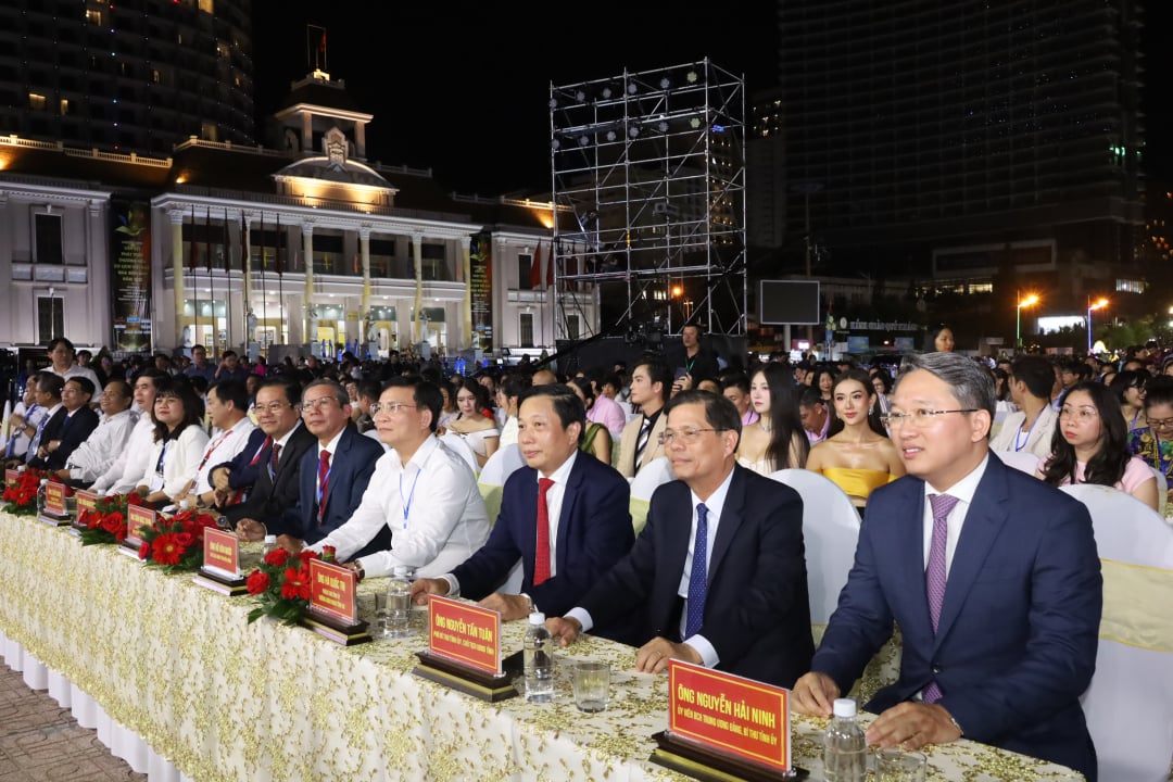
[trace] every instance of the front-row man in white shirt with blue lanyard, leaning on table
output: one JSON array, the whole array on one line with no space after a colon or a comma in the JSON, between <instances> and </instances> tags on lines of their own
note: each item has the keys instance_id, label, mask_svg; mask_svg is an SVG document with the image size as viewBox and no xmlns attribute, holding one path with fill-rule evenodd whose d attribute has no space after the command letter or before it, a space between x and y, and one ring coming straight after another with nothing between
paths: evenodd
<instances>
[{"instance_id":1,"label":"front-row man in white shirt with blue lanyard, leaning on table","mask_svg":"<svg viewBox=\"0 0 1173 782\"><path fill-rule=\"evenodd\" d=\"M375 463L350 521L311 549L334 546L338 559L346 562L386 524L391 549L351 566L364 576L388 576L402 566L429 577L448 572L484 545L489 518L476 477L468 462L435 436L442 406L440 389L418 376L386 383L371 412L391 451Z\"/></svg>"}]
</instances>

